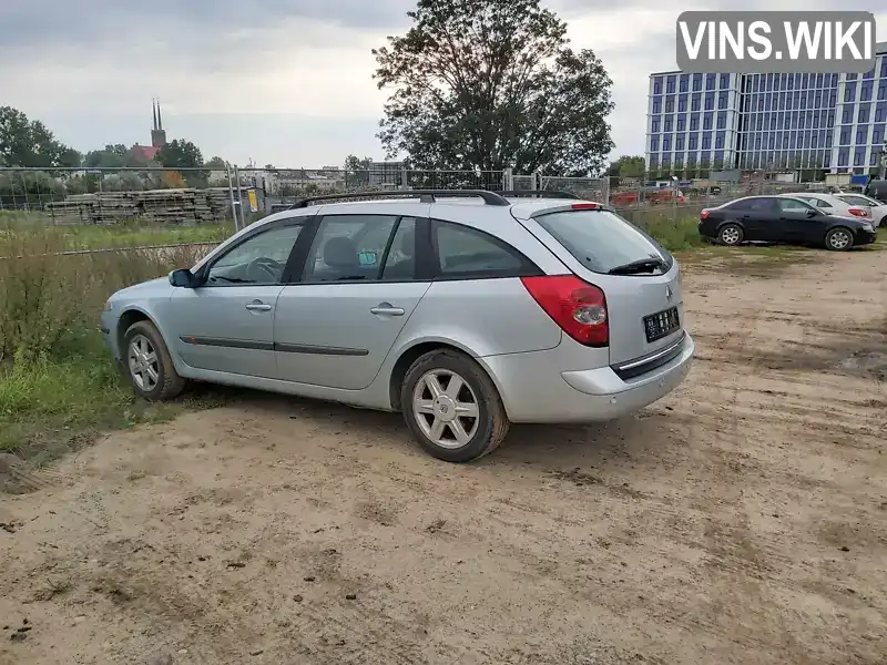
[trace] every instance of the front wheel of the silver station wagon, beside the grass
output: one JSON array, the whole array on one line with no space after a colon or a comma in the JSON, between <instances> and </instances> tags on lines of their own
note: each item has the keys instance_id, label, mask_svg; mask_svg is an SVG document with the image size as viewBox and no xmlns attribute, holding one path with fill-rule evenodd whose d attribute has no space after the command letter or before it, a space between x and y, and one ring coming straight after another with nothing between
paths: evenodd
<instances>
[{"instance_id":1,"label":"front wheel of the silver station wagon, beside the grass","mask_svg":"<svg viewBox=\"0 0 887 665\"><path fill-rule=\"evenodd\" d=\"M164 401L184 390L185 380L175 371L170 350L151 321L136 321L130 326L123 336L122 350L123 369L139 397ZM142 371L137 371L136 367ZM147 368L153 370L154 380Z\"/></svg>"}]
</instances>

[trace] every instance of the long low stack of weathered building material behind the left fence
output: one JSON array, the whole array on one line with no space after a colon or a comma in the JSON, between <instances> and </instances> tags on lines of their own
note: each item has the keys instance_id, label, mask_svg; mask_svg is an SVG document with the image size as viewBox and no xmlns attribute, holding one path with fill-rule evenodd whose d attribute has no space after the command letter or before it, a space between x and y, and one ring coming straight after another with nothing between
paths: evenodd
<instances>
[{"instance_id":1,"label":"long low stack of weathered building material behind the left fence","mask_svg":"<svg viewBox=\"0 0 887 665\"><path fill-rule=\"evenodd\" d=\"M215 190L147 190L72 194L45 205L57 224L213 224L228 212Z\"/></svg>"}]
</instances>

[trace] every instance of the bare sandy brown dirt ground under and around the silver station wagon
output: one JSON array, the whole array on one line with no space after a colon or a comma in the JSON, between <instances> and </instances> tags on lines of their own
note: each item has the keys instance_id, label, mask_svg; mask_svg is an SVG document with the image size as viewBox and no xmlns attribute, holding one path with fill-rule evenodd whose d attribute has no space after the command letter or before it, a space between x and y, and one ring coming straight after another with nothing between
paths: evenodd
<instances>
[{"instance_id":1,"label":"bare sandy brown dirt ground under and around the silver station wagon","mask_svg":"<svg viewBox=\"0 0 887 665\"><path fill-rule=\"evenodd\" d=\"M256 393L106 437L0 497L0 664L887 663L887 253L809 256L689 265L679 391L473 466Z\"/></svg>"}]
</instances>

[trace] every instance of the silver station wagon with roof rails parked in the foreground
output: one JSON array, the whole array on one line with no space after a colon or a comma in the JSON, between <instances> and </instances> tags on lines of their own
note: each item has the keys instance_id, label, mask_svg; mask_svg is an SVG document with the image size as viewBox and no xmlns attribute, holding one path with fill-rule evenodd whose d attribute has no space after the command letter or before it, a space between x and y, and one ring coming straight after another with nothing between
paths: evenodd
<instances>
[{"instance_id":1,"label":"silver station wagon with roof rails parked in the foreground","mask_svg":"<svg viewBox=\"0 0 887 665\"><path fill-rule=\"evenodd\" d=\"M305 200L114 294L102 329L135 392L194 379L402 411L422 448L465 462L509 422L610 420L686 376L680 266L612 209L349 196L367 200Z\"/></svg>"}]
</instances>

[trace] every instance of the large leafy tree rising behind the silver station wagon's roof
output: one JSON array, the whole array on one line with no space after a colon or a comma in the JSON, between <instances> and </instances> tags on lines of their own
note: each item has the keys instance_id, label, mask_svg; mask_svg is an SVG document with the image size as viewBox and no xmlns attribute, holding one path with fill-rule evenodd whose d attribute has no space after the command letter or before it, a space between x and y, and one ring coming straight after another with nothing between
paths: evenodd
<instances>
[{"instance_id":1,"label":"large leafy tree rising behind the silver station wagon's roof","mask_svg":"<svg viewBox=\"0 0 887 665\"><path fill-rule=\"evenodd\" d=\"M418 0L414 25L373 51L379 139L416 168L598 173L613 146L612 81L539 0Z\"/></svg>"}]
</instances>

